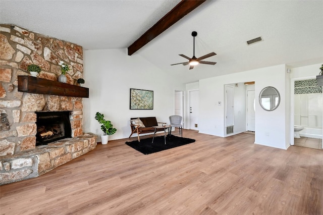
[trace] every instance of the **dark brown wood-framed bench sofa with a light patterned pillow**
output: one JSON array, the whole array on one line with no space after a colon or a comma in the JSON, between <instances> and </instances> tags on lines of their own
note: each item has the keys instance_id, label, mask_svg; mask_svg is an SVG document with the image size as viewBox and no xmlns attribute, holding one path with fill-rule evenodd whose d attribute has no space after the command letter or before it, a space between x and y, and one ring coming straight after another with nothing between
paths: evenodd
<instances>
[{"instance_id":1,"label":"dark brown wood-framed bench sofa with a light patterned pillow","mask_svg":"<svg viewBox=\"0 0 323 215\"><path fill-rule=\"evenodd\" d=\"M166 123L158 123L155 117L137 117L130 118L131 134L129 138L137 133L138 141L140 142L139 134L154 132L153 126L161 126ZM157 128L156 131L164 131L164 128Z\"/></svg>"}]
</instances>

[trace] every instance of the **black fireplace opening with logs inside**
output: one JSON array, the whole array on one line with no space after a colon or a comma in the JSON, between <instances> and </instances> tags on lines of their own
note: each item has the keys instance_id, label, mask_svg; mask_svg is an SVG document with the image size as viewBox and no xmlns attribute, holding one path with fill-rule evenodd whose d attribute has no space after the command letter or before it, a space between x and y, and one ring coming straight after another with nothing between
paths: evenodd
<instances>
[{"instance_id":1,"label":"black fireplace opening with logs inside","mask_svg":"<svg viewBox=\"0 0 323 215\"><path fill-rule=\"evenodd\" d=\"M37 115L36 146L72 137L70 111L35 113Z\"/></svg>"}]
</instances>

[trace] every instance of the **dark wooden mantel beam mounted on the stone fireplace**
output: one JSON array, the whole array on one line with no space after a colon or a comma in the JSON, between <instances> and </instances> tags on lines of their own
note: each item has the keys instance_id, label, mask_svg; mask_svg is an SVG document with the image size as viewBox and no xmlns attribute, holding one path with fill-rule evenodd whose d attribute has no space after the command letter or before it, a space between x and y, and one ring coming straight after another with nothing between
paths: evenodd
<instances>
[{"instance_id":1,"label":"dark wooden mantel beam mounted on the stone fireplace","mask_svg":"<svg viewBox=\"0 0 323 215\"><path fill-rule=\"evenodd\" d=\"M89 97L89 88L32 76L18 76L18 91L82 98Z\"/></svg>"}]
</instances>

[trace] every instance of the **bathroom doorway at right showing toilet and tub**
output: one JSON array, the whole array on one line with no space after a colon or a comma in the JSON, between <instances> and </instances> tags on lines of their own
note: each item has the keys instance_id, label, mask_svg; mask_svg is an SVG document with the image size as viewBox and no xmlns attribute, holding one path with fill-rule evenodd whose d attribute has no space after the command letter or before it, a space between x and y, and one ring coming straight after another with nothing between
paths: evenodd
<instances>
[{"instance_id":1,"label":"bathroom doorway at right showing toilet and tub","mask_svg":"<svg viewBox=\"0 0 323 215\"><path fill-rule=\"evenodd\" d=\"M322 149L323 94L315 77L291 80L291 145ZM300 131L295 132L295 127Z\"/></svg>"}]
</instances>

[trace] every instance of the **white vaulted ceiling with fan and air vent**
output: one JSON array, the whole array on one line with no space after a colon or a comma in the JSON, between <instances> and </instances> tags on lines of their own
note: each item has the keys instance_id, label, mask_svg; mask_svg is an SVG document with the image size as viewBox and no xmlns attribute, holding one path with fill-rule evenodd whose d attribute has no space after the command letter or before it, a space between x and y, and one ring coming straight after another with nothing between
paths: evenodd
<instances>
[{"instance_id":1,"label":"white vaulted ceiling with fan and air vent","mask_svg":"<svg viewBox=\"0 0 323 215\"><path fill-rule=\"evenodd\" d=\"M3 1L0 21L83 46L127 48L180 1ZM133 55L184 83L287 64L323 63L323 1L206 1ZM209 52L216 65L189 66L178 56ZM246 41L261 36L262 42ZM317 68L317 74L319 69Z\"/></svg>"}]
</instances>

